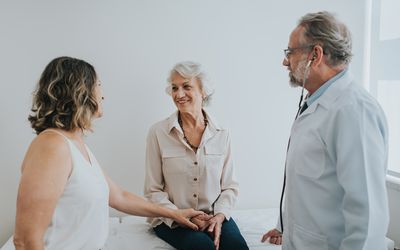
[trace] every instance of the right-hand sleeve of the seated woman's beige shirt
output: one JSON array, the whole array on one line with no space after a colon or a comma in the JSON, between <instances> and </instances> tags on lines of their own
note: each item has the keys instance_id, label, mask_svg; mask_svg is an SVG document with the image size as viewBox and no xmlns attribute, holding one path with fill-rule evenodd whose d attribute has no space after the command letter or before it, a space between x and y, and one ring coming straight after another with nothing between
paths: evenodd
<instances>
[{"instance_id":1,"label":"right-hand sleeve of the seated woman's beige shirt","mask_svg":"<svg viewBox=\"0 0 400 250\"><path fill-rule=\"evenodd\" d=\"M231 140L227 136L227 152L225 154L224 166L221 176L221 194L214 203L214 214L222 213L227 220L231 217L231 210L236 203L239 193L239 184L233 169L231 155Z\"/></svg>"}]
</instances>

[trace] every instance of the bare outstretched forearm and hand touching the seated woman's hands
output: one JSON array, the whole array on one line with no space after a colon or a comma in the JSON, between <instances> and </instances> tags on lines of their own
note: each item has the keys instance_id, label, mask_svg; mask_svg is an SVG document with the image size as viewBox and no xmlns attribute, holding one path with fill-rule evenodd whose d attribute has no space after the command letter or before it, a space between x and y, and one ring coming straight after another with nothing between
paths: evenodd
<instances>
[{"instance_id":1,"label":"bare outstretched forearm and hand touching the seated woman's hands","mask_svg":"<svg viewBox=\"0 0 400 250\"><path fill-rule=\"evenodd\" d=\"M190 222L190 218L199 214L201 211L193 209L170 209L161 207L146 201L140 196L122 190L111 178L104 175L110 189L110 206L121 212L144 216L144 217L166 217L171 218L184 226L197 230L198 227Z\"/></svg>"}]
</instances>

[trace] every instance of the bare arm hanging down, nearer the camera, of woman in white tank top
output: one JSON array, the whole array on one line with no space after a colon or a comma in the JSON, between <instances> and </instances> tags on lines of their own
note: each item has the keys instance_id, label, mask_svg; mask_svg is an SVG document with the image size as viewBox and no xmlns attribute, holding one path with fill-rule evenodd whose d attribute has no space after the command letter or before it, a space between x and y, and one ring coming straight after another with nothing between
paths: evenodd
<instances>
[{"instance_id":1,"label":"bare arm hanging down, nearer the camera, of woman in white tank top","mask_svg":"<svg viewBox=\"0 0 400 250\"><path fill-rule=\"evenodd\" d=\"M17 197L14 245L17 250L44 249L44 234L71 172L65 140L53 133L37 136L22 163Z\"/></svg>"}]
</instances>

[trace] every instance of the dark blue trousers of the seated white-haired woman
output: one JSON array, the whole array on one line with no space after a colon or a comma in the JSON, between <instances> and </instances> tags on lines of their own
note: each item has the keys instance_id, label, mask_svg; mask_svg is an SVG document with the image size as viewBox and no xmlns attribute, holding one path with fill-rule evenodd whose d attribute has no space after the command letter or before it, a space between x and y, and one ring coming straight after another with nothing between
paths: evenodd
<instances>
[{"instance_id":1,"label":"dark blue trousers of the seated white-haired woman","mask_svg":"<svg viewBox=\"0 0 400 250\"><path fill-rule=\"evenodd\" d=\"M179 250L215 250L214 237L206 231L193 231L189 228L171 229L164 223L154 228L156 235ZM231 218L225 220L221 228L220 250L248 250L246 241Z\"/></svg>"}]
</instances>

